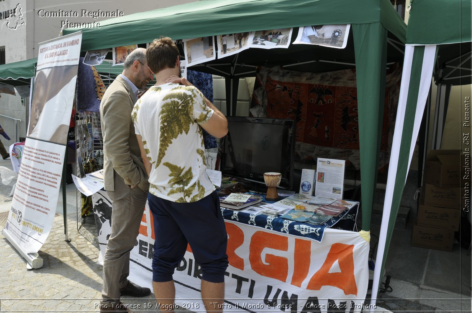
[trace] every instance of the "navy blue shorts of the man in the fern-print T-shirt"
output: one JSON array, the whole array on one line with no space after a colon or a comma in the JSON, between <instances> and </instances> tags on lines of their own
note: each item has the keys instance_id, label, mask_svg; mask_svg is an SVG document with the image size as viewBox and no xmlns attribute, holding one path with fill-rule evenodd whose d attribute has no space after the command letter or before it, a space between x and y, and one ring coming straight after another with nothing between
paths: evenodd
<instances>
[{"instance_id":1,"label":"navy blue shorts of the man in the fern-print T-shirt","mask_svg":"<svg viewBox=\"0 0 472 313\"><path fill-rule=\"evenodd\" d=\"M202 279L224 282L228 268L228 235L216 192L189 203L177 203L148 196L154 218L154 255L152 281L172 280L175 268L190 244L195 261L202 269Z\"/></svg>"}]
</instances>

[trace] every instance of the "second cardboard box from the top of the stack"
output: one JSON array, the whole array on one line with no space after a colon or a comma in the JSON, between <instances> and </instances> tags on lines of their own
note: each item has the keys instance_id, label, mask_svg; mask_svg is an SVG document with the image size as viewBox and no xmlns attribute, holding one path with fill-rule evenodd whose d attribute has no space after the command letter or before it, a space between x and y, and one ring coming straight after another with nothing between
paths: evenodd
<instances>
[{"instance_id":1,"label":"second cardboard box from the top of the stack","mask_svg":"<svg viewBox=\"0 0 472 313\"><path fill-rule=\"evenodd\" d=\"M451 209L458 209L461 206L461 189L459 187L439 188L426 183L421 189L421 193L425 206Z\"/></svg>"}]
</instances>

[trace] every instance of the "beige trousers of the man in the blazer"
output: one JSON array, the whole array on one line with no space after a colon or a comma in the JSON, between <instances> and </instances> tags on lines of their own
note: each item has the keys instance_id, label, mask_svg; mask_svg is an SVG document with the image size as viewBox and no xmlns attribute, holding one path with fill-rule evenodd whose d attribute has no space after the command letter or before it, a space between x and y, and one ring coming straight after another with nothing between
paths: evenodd
<instances>
[{"instance_id":1,"label":"beige trousers of the man in the blazer","mask_svg":"<svg viewBox=\"0 0 472 313\"><path fill-rule=\"evenodd\" d=\"M138 186L131 189L115 171L114 191L107 191L111 203L111 234L103 257L102 303L119 302L119 288L129 275L129 254L136 244L148 193Z\"/></svg>"}]
</instances>

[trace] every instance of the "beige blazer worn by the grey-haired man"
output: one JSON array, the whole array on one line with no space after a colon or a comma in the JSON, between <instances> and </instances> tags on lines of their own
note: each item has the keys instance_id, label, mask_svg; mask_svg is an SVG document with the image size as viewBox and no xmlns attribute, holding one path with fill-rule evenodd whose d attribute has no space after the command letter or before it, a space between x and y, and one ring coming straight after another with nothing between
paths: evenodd
<instances>
[{"instance_id":1,"label":"beige blazer worn by the grey-haired man","mask_svg":"<svg viewBox=\"0 0 472 313\"><path fill-rule=\"evenodd\" d=\"M149 190L148 176L131 120L136 97L126 80L118 76L110 84L100 103L101 132L103 136L103 174L105 190L114 191L113 170L126 185Z\"/></svg>"}]
</instances>

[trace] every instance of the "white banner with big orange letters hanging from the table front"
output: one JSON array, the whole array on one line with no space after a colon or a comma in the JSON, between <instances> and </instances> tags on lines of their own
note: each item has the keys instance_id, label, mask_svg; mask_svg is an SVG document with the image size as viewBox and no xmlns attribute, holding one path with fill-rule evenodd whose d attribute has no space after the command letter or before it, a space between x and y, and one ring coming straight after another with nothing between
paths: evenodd
<instances>
[{"instance_id":1,"label":"white banner with big orange letters hanging from the table front","mask_svg":"<svg viewBox=\"0 0 472 313\"><path fill-rule=\"evenodd\" d=\"M152 288L152 214L146 206L129 279ZM360 312L369 280L369 243L357 232L326 229L322 242L226 221L226 312ZM188 248L174 273L176 304L205 312L202 272ZM156 303L148 304L155 309ZM148 307L149 308L149 307Z\"/></svg>"}]
</instances>

